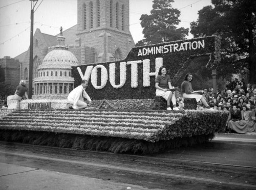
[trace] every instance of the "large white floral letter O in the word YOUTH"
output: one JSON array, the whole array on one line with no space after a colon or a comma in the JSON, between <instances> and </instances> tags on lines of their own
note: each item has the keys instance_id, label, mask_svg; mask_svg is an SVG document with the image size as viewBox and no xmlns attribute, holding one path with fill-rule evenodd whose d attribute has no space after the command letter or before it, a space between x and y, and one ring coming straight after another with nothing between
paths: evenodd
<instances>
[{"instance_id":1,"label":"large white floral letter O in the word YOUTH","mask_svg":"<svg viewBox=\"0 0 256 190\"><path fill-rule=\"evenodd\" d=\"M101 68L101 85L97 86L98 69ZM96 65L91 74L92 85L95 89L103 89L108 82L108 71L103 65Z\"/></svg>"}]
</instances>

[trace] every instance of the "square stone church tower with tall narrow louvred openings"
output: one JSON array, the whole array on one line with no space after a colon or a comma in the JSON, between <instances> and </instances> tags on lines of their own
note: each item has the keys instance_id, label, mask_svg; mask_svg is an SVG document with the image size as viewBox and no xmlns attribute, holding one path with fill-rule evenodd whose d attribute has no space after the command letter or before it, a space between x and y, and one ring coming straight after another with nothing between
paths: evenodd
<instances>
[{"instance_id":1,"label":"square stone church tower with tall narrow louvred openings","mask_svg":"<svg viewBox=\"0 0 256 190\"><path fill-rule=\"evenodd\" d=\"M123 60L134 47L129 0L77 0L80 64Z\"/></svg>"}]
</instances>

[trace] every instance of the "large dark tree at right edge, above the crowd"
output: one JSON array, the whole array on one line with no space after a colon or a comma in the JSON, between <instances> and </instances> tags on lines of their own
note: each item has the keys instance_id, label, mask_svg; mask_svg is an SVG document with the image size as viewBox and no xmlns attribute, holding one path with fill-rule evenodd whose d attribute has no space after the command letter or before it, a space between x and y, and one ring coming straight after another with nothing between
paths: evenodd
<instances>
[{"instance_id":1,"label":"large dark tree at right edge, above the crowd","mask_svg":"<svg viewBox=\"0 0 256 190\"><path fill-rule=\"evenodd\" d=\"M249 71L249 83L256 83L256 1L212 0L214 5L198 12L199 17L190 23L194 37L218 35L221 37L221 64L218 74L243 74Z\"/></svg>"}]
</instances>

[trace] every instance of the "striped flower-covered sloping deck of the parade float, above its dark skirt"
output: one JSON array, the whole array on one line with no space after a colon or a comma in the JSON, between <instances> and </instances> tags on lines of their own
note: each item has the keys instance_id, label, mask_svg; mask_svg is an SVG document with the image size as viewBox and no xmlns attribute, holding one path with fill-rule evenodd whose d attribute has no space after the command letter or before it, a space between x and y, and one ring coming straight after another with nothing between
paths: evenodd
<instances>
[{"instance_id":1,"label":"striped flower-covered sloping deck of the parade float, above its dark skirt","mask_svg":"<svg viewBox=\"0 0 256 190\"><path fill-rule=\"evenodd\" d=\"M158 142L223 131L227 116L219 111L18 110L0 119L0 129Z\"/></svg>"}]
</instances>

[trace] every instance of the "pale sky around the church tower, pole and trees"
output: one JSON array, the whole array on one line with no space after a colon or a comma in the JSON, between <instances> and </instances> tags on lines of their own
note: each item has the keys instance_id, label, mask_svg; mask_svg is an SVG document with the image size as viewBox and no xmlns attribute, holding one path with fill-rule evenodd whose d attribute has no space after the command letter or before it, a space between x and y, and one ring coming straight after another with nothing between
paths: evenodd
<instances>
[{"instance_id":1,"label":"pale sky around the church tower, pole and trees","mask_svg":"<svg viewBox=\"0 0 256 190\"><path fill-rule=\"evenodd\" d=\"M198 19L198 11L211 5L211 0L174 0L173 8L181 11L179 27L190 28ZM39 6L38 6L39 5ZM140 16L150 14L152 0L130 0L130 32L134 42L143 39ZM29 0L0 0L0 58L14 58L27 51L30 44ZM38 0L34 12L34 32L57 35L77 24L77 0ZM188 39L193 38L189 34Z\"/></svg>"}]
</instances>

